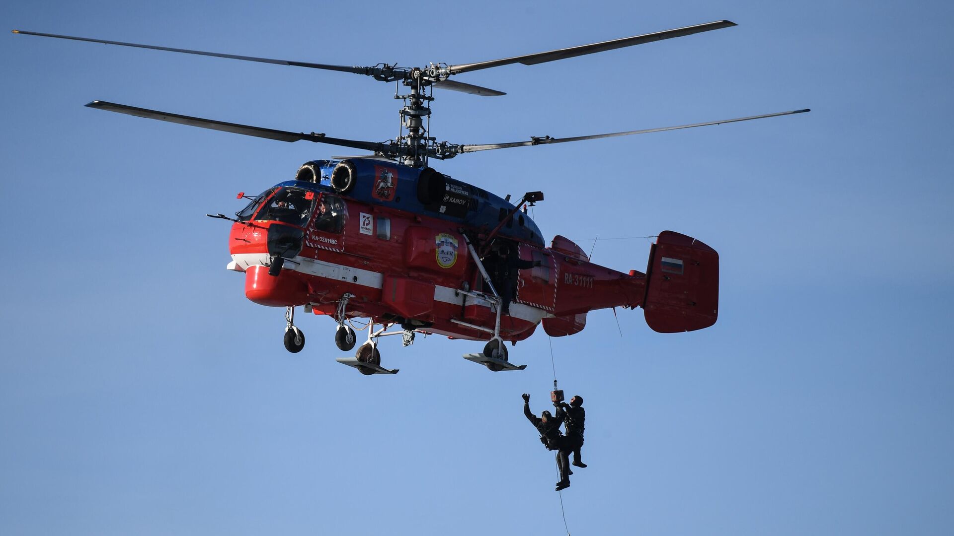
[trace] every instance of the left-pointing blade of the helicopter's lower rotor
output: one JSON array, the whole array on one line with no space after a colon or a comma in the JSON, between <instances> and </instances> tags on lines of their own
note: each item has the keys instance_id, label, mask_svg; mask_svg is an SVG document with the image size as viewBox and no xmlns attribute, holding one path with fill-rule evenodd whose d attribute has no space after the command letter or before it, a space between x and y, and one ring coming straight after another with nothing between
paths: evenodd
<instances>
[{"instance_id":1,"label":"left-pointing blade of the helicopter's lower rotor","mask_svg":"<svg viewBox=\"0 0 954 536\"><path fill-rule=\"evenodd\" d=\"M383 143L371 141L355 141L351 139L341 139L337 137L327 137L324 134L304 134L292 133L287 131L277 131L274 129L263 129L261 127L252 127L249 125L239 125L238 123L226 123L224 121L215 121L213 119L203 119L201 117L191 117L189 115L180 115L178 113L158 112L156 110L147 110L145 108L136 108L135 106L126 106L125 104L115 104L102 100L94 100L87 104L90 108L97 110L106 110L108 112L126 113L136 117L146 117L147 119L158 119L160 121L169 121L180 125L189 125L191 127L201 127L203 129L212 129L226 133L254 135L268 139L277 139L279 141L314 141L316 143L327 143L330 145L341 145L342 147L351 147L352 149L363 149L364 151L385 151L388 146Z\"/></svg>"}]
</instances>

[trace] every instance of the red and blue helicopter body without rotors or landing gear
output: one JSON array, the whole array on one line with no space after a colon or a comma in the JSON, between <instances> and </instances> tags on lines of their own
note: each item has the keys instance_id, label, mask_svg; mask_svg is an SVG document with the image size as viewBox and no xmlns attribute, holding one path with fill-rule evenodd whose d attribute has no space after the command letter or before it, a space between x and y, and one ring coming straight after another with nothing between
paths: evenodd
<instances>
[{"instance_id":1,"label":"red and blue helicopter body without rotors or landing gear","mask_svg":"<svg viewBox=\"0 0 954 536\"><path fill-rule=\"evenodd\" d=\"M342 176L333 176L338 170ZM296 178L257 197L232 226L229 267L245 273L246 297L262 305L305 306L340 321L360 317L488 340L499 294L510 301L500 337L516 341L541 322L550 336L565 336L582 330L591 310L645 306L652 286L641 272L591 263L565 237L546 247L517 206L433 170L373 159L322 160L303 165ZM699 329L716 320L717 255L697 240L675 237L667 247L681 244L709 261L709 278L702 281L706 302L697 307L697 301L683 303L683 296L663 299L659 307L689 307L692 314L666 309L653 325L648 309L657 331ZM501 254L515 257L505 262ZM661 282L671 286L669 276L693 272L687 268L695 258L668 259ZM666 268L660 264L659 271ZM699 286L697 273L691 286Z\"/></svg>"}]
</instances>

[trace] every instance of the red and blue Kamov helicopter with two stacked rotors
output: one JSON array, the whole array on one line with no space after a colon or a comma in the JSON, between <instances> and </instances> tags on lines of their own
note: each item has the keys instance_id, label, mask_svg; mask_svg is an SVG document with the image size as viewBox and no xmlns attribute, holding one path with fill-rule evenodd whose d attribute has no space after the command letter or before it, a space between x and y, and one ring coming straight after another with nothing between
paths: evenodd
<instances>
[{"instance_id":1,"label":"red and blue Kamov helicopter with two stacked rotors","mask_svg":"<svg viewBox=\"0 0 954 536\"><path fill-rule=\"evenodd\" d=\"M497 372L527 366L509 361L506 341L515 345L541 324L550 337L579 333L586 327L587 313L597 309L641 307L648 325L660 333L694 331L715 324L718 254L702 241L663 231L651 245L645 273L616 271L592 263L567 237L556 236L546 245L528 212L529 206L544 200L542 192L528 192L513 202L510 196L495 196L442 174L431 168L429 161L809 110L608 134L531 136L523 141L461 145L439 142L429 135L429 106L435 88L480 96L506 94L450 79L457 74L515 63L535 65L733 26L736 23L720 20L549 52L415 68L385 63L349 67L35 31L13 33L351 72L395 82L395 98L404 101L400 132L384 142L293 133L101 100L86 105L234 134L369 152L305 162L293 179L258 196L239 193L237 198L249 202L235 217L207 216L232 222L232 260L227 268L244 274L246 298L285 309L283 343L288 351L300 352L304 347L304 334L295 324L295 310L301 307L306 314L335 321L335 343L344 352L354 349L356 332L366 330L367 340L355 355L337 361L373 375L398 372L381 364L378 342L386 336L402 336L404 346L412 344L417 334L486 341L482 352L464 358ZM402 88L406 93L400 94Z\"/></svg>"}]
</instances>

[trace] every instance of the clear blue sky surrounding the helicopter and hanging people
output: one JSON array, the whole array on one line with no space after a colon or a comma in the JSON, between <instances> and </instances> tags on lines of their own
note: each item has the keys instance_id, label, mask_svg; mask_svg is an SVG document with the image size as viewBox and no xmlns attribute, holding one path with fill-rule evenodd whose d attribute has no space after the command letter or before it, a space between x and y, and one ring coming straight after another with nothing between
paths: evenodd
<instances>
[{"instance_id":1,"label":"clear blue sky surrounding the helicopter and hanging people","mask_svg":"<svg viewBox=\"0 0 954 536\"><path fill-rule=\"evenodd\" d=\"M954 113L949 2L3 2L4 28L345 65L464 63L718 19L736 28L456 77L454 143L811 108L491 151L437 169L543 190L547 239L672 229L721 257L716 325L640 310L553 339L588 411L570 532L954 533ZM93 99L354 139L397 134L393 85L337 72L0 35L0 533L561 534L521 413L553 377L481 344L382 341L394 377L334 361L334 322L227 272L239 191L342 151L83 108ZM593 260L644 270L649 240ZM622 337L620 337L620 331Z\"/></svg>"}]
</instances>

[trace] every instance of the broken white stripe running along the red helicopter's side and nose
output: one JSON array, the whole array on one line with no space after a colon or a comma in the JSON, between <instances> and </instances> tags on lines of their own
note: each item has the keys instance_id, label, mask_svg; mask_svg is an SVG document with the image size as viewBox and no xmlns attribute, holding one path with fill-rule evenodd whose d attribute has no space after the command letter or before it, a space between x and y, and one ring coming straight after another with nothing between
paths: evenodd
<instances>
[{"instance_id":1,"label":"broken white stripe running along the red helicopter's side and nose","mask_svg":"<svg viewBox=\"0 0 954 536\"><path fill-rule=\"evenodd\" d=\"M249 268L257 264L264 266L270 261L270 257L267 253L240 253L233 255L232 258L236 261L236 264L243 268ZM384 274L380 272L372 272L370 270L363 270L361 268L354 268L352 266L345 266L343 264L336 264L315 258L296 257L285 259L283 269L294 270L318 278L328 278L362 285L368 288L380 289L384 286ZM467 300L467 305L477 305L492 310L490 302L486 299L468 297L466 294L457 292L456 289L434 285L435 301L463 306L465 305L465 299ZM537 324L540 320L550 316L552 316L550 313L537 307L530 307L529 305L515 301L510 303L510 317L514 319L526 320Z\"/></svg>"}]
</instances>

